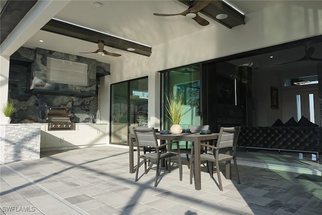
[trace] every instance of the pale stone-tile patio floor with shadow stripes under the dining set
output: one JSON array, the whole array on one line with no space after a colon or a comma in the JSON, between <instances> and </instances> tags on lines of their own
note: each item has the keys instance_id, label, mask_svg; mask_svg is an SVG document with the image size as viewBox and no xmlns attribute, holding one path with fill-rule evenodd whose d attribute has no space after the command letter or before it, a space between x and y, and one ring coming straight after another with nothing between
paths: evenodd
<instances>
[{"instance_id":1,"label":"pale stone-tile patio floor with shadow stripes under the dining set","mask_svg":"<svg viewBox=\"0 0 322 215\"><path fill-rule=\"evenodd\" d=\"M142 166L142 177L134 182L128 164L128 150L110 146L2 164L0 214L322 213L321 176L297 179L300 173L239 165L240 185L234 169L232 180L221 177L223 191L202 172L197 191L189 184L186 165L183 181L174 165L171 173L160 173L154 188L153 169L142 176Z\"/></svg>"}]
</instances>

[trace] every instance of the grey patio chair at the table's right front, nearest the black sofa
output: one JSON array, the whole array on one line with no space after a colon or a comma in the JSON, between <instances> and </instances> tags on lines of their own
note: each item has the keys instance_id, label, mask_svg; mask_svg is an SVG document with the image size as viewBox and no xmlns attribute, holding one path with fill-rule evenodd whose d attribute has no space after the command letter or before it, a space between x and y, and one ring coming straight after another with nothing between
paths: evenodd
<instances>
[{"instance_id":1,"label":"grey patio chair at the table's right front, nearest the black sofa","mask_svg":"<svg viewBox=\"0 0 322 215\"><path fill-rule=\"evenodd\" d=\"M219 189L222 191L222 183L220 178L220 169L219 163L222 162L229 162L233 160L233 164L236 169L236 177L237 183L240 184L239 174L237 169L237 162L236 162L236 144L239 135L240 127L221 127L217 139L216 146L207 145L205 143L201 143L201 147L209 147L212 149L212 153L208 153L207 151L200 155L200 161L207 161L207 167L210 174L210 177L213 178L213 163L216 165L216 171L218 176L218 183ZM219 150L226 149L226 154L220 153ZM232 149L232 155L230 155L230 150ZM191 168L190 168L190 184L192 184L192 177L193 177L193 160L194 160L194 145L191 147ZM209 164L210 163L210 164ZM230 169L229 169L230 171ZM230 175L230 172L228 173ZM227 173L226 173L227 175Z\"/></svg>"}]
</instances>

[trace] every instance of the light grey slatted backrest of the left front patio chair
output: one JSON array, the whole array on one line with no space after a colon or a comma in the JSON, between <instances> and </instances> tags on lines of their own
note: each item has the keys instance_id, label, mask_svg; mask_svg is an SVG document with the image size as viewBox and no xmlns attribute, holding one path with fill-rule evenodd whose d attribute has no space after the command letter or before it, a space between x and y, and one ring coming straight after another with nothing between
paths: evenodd
<instances>
[{"instance_id":1,"label":"light grey slatted backrest of the left front patio chair","mask_svg":"<svg viewBox=\"0 0 322 215\"><path fill-rule=\"evenodd\" d=\"M154 128L138 128L133 129L135 140L138 147L157 147L157 138Z\"/></svg>"}]
</instances>

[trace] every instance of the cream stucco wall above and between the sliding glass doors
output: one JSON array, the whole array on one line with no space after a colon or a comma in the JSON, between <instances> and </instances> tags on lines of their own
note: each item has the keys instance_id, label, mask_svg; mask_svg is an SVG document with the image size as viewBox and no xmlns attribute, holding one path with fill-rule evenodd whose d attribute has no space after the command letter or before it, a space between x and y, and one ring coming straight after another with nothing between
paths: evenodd
<instances>
[{"instance_id":1,"label":"cream stucco wall above and between the sliding glass doors","mask_svg":"<svg viewBox=\"0 0 322 215\"><path fill-rule=\"evenodd\" d=\"M220 25L200 28L199 32L152 47L150 57L133 55L116 61L111 65L112 75L106 77L106 84L148 76L149 126L157 127L157 71L319 35L322 33L321 20L322 7L319 1L285 1L247 15L246 25L232 29ZM109 97L110 88L107 87L106 90L105 96ZM106 100L109 101L109 98ZM108 118L108 111L105 114ZM267 113L266 121L274 114ZM277 114L280 114L280 111L277 111Z\"/></svg>"}]
</instances>

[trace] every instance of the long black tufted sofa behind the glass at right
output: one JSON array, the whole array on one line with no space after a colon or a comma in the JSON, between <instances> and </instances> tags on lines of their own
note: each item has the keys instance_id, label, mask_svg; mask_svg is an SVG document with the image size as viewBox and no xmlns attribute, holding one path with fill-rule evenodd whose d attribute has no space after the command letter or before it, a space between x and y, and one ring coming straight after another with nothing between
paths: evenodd
<instances>
[{"instance_id":1,"label":"long black tufted sofa behind the glass at right","mask_svg":"<svg viewBox=\"0 0 322 215\"><path fill-rule=\"evenodd\" d=\"M322 153L322 127L241 126L237 147Z\"/></svg>"}]
</instances>

